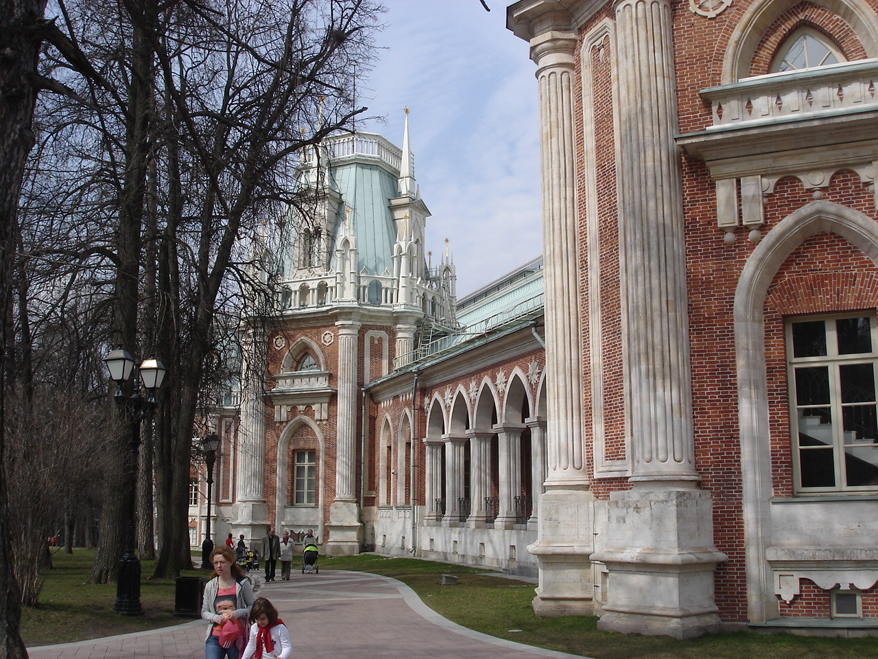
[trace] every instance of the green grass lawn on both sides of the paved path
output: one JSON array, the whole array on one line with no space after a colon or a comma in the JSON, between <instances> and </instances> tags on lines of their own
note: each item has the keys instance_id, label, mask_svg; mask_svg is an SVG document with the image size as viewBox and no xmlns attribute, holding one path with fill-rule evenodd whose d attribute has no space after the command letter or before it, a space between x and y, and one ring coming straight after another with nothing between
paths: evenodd
<instances>
[{"instance_id":1,"label":"green grass lawn on both sides of the paved path","mask_svg":"<svg viewBox=\"0 0 878 659\"><path fill-rule=\"evenodd\" d=\"M23 635L29 646L125 634L186 619L173 615L174 582L143 579L140 601L146 614L126 618L112 613L115 584L86 583L93 552L55 554L46 576L40 606L23 612ZM194 556L198 560L198 554ZM530 608L532 583L484 576L484 570L415 559L388 559L375 554L320 557L320 573L350 569L392 576L407 583L436 612L485 634L595 659L878 659L878 639L834 639L792 634L716 634L692 641L660 636L610 634L596 629L597 619L537 618ZM152 564L145 562L143 574ZM186 576L200 576L191 570ZM455 586L439 584L440 576L459 577ZM319 576L314 578L320 578ZM520 630L511 632L509 630Z\"/></svg>"}]
</instances>

